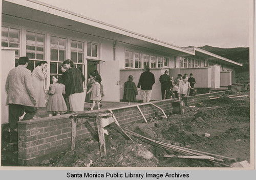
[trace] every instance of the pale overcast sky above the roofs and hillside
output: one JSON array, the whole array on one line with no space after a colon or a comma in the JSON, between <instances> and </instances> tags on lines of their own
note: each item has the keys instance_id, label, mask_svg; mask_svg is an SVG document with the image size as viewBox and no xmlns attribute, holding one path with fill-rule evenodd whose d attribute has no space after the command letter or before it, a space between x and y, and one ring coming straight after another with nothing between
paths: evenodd
<instances>
[{"instance_id":1,"label":"pale overcast sky above the roofs and hillside","mask_svg":"<svg viewBox=\"0 0 256 180\"><path fill-rule=\"evenodd\" d=\"M248 47L250 0L39 0L178 46Z\"/></svg>"}]
</instances>

